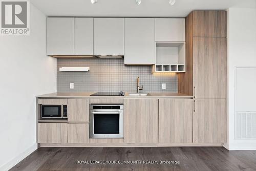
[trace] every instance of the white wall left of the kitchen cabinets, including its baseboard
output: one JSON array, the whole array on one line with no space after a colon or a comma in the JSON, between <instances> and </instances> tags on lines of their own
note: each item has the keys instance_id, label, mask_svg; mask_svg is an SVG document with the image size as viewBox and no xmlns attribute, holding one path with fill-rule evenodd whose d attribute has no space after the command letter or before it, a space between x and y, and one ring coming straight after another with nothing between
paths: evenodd
<instances>
[{"instance_id":1,"label":"white wall left of the kitchen cabinets, including its baseboard","mask_svg":"<svg viewBox=\"0 0 256 171\"><path fill-rule=\"evenodd\" d=\"M56 92L46 15L30 6L30 36L0 36L0 170L36 149L35 96Z\"/></svg>"}]
</instances>

